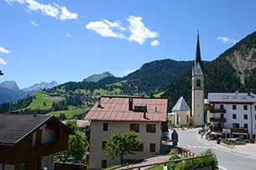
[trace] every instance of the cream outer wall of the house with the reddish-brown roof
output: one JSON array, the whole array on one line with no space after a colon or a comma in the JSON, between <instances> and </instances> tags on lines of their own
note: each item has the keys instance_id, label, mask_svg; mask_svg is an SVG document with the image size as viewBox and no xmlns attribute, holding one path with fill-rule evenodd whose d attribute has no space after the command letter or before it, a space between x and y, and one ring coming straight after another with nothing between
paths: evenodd
<instances>
[{"instance_id":1,"label":"cream outer wall of the house with the reddish-brown roof","mask_svg":"<svg viewBox=\"0 0 256 170\"><path fill-rule=\"evenodd\" d=\"M109 123L109 131L102 131L102 122ZM136 155L124 156L123 159L141 159L143 157L155 156L159 154L160 139L161 139L161 126L160 122L135 122L135 121L92 121L91 122L91 142L90 142L90 159L89 168L101 168L102 159L107 160L107 167L114 164L120 164L120 158L111 160L111 157L106 157L106 151L102 150L102 141L106 141L114 132L130 131L130 124L138 123L139 132L138 140L144 145L144 152L136 152ZM146 132L147 124L155 124L156 132ZM149 152L149 144L156 144L156 152Z\"/></svg>"}]
</instances>

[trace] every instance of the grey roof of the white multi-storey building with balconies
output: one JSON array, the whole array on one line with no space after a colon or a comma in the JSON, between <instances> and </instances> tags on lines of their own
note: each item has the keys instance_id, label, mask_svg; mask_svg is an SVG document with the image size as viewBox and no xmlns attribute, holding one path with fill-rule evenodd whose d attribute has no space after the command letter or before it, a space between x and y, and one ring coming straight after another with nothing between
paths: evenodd
<instances>
[{"instance_id":1,"label":"grey roof of the white multi-storey building with balconies","mask_svg":"<svg viewBox=\"0 0 256 170\"><path fill-rule=\"evenodd\" d=\"M256 95L253 93L208 93L208 102L220 103L256 103Z\"/></svg>"}]
</instances>

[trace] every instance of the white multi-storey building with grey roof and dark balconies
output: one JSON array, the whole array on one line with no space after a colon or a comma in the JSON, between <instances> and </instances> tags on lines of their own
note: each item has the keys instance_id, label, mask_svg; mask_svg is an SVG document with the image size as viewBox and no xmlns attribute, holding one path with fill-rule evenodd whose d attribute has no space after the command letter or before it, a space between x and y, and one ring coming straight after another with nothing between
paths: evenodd
<instances>
[{"instance_id":1,"label":"white multi-storey building with grey roof and dark balconies","mask_svg":"<svg viewBox=\"0 0 256 170\"><path fill-rule=\"evenodd\" d=\"M207 101L207 121L214 126L213 131L227 131L230 137L255 139L256 95L238 91L208 93Z\"/></svg>"}]
</instances>

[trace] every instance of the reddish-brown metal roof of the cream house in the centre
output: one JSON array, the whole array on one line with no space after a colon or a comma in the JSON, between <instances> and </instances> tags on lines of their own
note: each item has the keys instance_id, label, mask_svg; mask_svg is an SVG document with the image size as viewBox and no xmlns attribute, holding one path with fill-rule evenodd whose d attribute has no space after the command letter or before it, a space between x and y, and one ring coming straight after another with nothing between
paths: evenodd
<instances>
[{"instance_id":1,"label":"reddish-brown metal roof of the cream house in the centre","mask_svg":"<svg viewBox=\"0 0 256 170\"><path fill-rule=\"evenodd\" d=\"M132 102L129 102L132 101ZM98 121L166 121L167 99L103 96L87 113L86 120ZM131 105L130 105L131 104ZM129 109L129 106L132 109ZM142 108L146 111L138 111Z\"/></svg>"}]
</instances>

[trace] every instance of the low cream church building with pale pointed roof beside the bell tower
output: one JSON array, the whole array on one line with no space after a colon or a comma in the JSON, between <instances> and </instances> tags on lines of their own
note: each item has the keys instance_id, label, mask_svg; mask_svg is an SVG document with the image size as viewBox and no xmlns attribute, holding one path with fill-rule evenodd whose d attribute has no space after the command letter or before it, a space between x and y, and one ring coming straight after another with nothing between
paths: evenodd
<instances>
[{"instance_id":1,"label":"low cream church building with pale pointed roof beside the bell tower","mask_svg":"<svg viewBox=\"0 0 256 170\"><path fill-rule=\"evenodd\" d=\"M170 126L189 126L191 125L191 109L186 104L183 96L177 101L175 106L168 114L170 117Z\"/></svg>"}]
</instances>

